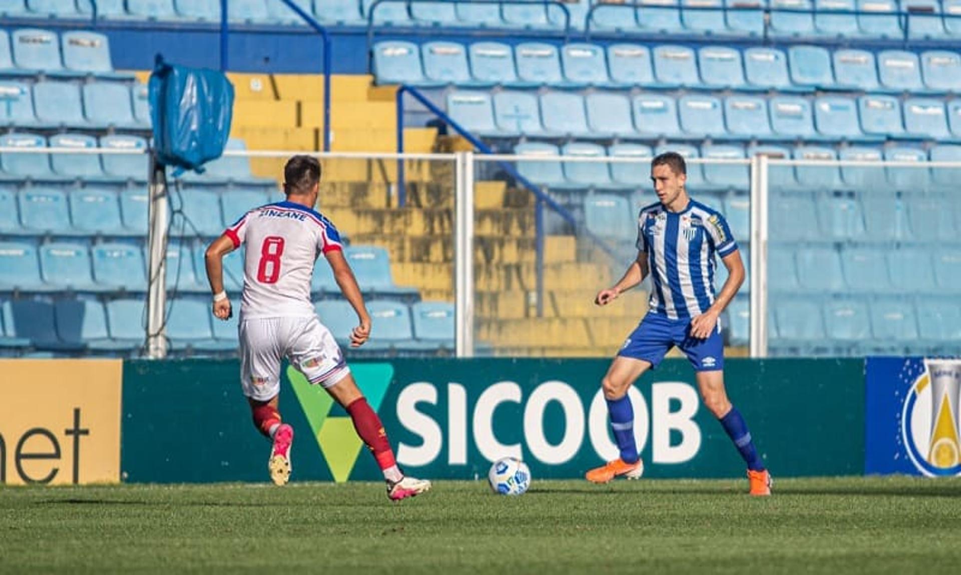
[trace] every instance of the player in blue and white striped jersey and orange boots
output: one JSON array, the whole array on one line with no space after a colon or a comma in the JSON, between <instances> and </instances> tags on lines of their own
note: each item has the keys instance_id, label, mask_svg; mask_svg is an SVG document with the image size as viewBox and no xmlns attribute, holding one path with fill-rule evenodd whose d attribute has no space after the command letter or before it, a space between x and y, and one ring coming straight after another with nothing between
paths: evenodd
<instances>
[{"instance_id":1,"label":"player in blue and white striped jersey and orange boots","mask_svg":"<svg viewBox=\"0 0 961 575\"><path fill-rule=\"evenodd\" d=\"M719 317L744 282L737 243L720 213L687 195L687 166L679 154L667 152L654 158L651 179L659 201L638 216L637 259L617 284L602 289L595 300L605 306L649 273L653 280L650 310L611 362L602 383L620 458L591 469L586 478L606 483L619 476L641 476L644 467L634 441L628 388L677 345L694 366L704 406L721 422L748 465L751 494L770 495L771 476L724 386ZM727 282L717 295L715 254L728 271Z\"/></svg>"}]
</instances>

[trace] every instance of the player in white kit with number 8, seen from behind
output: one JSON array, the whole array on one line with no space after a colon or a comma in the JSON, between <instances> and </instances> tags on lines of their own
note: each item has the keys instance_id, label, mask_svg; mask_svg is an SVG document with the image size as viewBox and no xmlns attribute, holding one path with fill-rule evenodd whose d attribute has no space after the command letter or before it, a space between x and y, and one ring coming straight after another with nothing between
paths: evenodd
<instances>
[{"instance_id":1,"label":"player in white kit with number 8, seen from behind","mask_svg":"<svg viewBox=\"0 0 961 575\"><path fill-rule=\"evenodd\" d=\"M351 415L357 435L374 454L387 482L387 496L406 499L431 488L431 482L406 477L397 466L380 417L367 404L331 332L310 303L313 264L321 253L333 277L357 312L351 347L370 336L370 314L350 265L344 259L333 223L313 211L320 184L320 162L294 156L283 168L286 200L261 206L237 220L207 249L207 276L213 291L213 315L231 317L224 291L223 258L247 244L240 305L240 383L254 424L273 439L268 468L277 485L290 479L293 428L278 411L281 361L286 358L314 385L324 387Z\"/></svg>"}]
</instances>

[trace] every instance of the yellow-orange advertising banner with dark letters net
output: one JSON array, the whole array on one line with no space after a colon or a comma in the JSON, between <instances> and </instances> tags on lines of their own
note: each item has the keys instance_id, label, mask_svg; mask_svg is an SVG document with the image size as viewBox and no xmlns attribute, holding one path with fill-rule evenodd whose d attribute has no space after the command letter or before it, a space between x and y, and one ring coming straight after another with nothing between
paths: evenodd
<instances>
[{"instance_id":1,"label":"yellow-orange advertising banner with dark letters net","mask_svg":"<svg viewBox=\"0 0 961 575\"><path fill-rule=\"evenodd\" d=\"M120 360L0 360L0 484L120 480Z\"/></svg>"}]
</instances>

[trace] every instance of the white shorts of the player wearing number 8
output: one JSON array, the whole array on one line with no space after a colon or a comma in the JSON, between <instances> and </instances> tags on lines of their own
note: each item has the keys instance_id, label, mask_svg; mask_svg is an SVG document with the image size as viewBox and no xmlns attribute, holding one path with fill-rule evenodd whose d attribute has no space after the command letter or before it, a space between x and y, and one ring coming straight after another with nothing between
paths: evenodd
<instances>
[{"instance_id":1,"label":"white shorts of the player wearing number 8","mask_svg":"<svg viewBox=\"0 0 961 575\"><path fill-rule=\"evenodd\" d=\"M283 358L311 384L323 387L351 372L331 331L316 315L242 319L239 330L240 384L251 399L268 401L281 391Z\"/></svg>"}]
</instances>

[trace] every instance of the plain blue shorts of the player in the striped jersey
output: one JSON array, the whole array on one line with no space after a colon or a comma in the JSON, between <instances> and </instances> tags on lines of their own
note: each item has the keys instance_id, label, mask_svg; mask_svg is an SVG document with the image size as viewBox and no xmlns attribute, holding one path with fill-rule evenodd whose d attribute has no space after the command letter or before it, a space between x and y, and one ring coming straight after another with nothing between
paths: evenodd
<instances>
[{"instance_id":1,"label":"plain blue shorts of the player in the striped jersey","mask_svg":"<svg viewBox=\"0 0 961 575\"><path fill-rule=\"evenodd\" d=\"M617 355L635 360L660 363L675 345L684 352L695 371L720 371L724 369L724 337L721 321L706 339L689 335L690 319L670 319L659 313L649 312L641 320Z\"/></svg>"}]
</instances>

